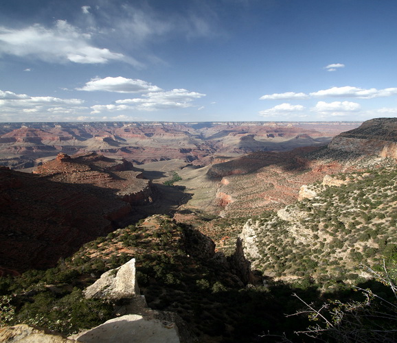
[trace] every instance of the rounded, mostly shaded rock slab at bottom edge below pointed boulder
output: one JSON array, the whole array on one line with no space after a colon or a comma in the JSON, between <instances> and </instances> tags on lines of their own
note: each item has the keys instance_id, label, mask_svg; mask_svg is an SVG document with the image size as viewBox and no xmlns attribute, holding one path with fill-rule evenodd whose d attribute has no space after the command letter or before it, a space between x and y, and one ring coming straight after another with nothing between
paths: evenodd
<instances>
[{"instance_id":1,"label":"rounded, mostly shaded rock slab at bottom edge below pointed boulder","mask_svg":"<svg viewBox=\"0 0 397 343\"><path fill-rule=\"evenodd\" d=\"M138 314L128 314L104 322L77 335L85 343L179 343L177 327L172 322L147 320Z\"/></svg>"}]
</instances>

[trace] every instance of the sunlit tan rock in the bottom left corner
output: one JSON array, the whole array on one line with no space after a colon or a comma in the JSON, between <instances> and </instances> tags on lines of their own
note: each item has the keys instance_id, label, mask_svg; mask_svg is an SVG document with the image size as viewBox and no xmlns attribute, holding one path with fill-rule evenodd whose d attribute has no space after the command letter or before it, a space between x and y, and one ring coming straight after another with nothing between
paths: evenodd
<instances>
[{"instance_id":1,"label":"sunlit tan rock in the bottom left corner","mask_svg":"<svg viewBox=\"0 0 397 343\"><path fill-rule=\"evenodd\" d=\"M61 335L36 329L26 324L0 328L0 342L3 343L73 343L82 342L63 338Z\"/></svg>"}]
</instances>

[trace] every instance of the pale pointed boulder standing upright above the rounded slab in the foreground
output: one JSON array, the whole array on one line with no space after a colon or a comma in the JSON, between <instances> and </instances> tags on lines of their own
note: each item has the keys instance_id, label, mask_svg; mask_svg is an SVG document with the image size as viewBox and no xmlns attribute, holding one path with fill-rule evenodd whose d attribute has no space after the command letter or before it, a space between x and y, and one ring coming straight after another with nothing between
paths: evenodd
<instances>
[{"instance_id":1,"label":"pale pointed boulder standing upright above the rounded slab in the foreground","mask_svg":"<svg viewBox=\"0 0 397 343\"><path fill-rule=\"evenodd\" d=\"M84 291L86 298L106 298L119 300L139 295L135 279L135 259L131 259L120 268L111 269Z\"/></svg>"}]
</instances>

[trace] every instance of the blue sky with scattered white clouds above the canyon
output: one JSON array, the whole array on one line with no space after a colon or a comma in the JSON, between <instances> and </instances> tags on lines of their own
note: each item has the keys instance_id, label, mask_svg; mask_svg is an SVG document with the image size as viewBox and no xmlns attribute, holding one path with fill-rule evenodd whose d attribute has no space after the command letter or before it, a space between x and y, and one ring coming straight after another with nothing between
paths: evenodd
<instances>
[{"instance_id":1,"label":"blue sky with scattered white clouds above the canyon","mask_svg":"<svg viewBox=\"0 0 397 343\"><path fill-rule=\"evenodd\" d=\"M0 121L397 117L396 0L1 0Z\"/></svg>"}]
</instances>

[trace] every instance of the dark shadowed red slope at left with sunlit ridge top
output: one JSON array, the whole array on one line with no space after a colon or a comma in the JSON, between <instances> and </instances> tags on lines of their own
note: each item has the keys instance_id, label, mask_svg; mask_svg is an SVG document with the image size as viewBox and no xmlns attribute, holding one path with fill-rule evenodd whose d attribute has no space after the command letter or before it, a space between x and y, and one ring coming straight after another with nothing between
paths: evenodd
<instances>
[{"instance_id":1,"label":"dark shadowed red slope at left with sunlit ridge top","mask_svg":"<svg viewBox=\"0 0 397 343\"><path fill-rule=\"evenodd\" d=\"M43 174L0 169L0 268L54 265L120 227L155 196L131 163L97 154L60 154Z\"/></svg>"}]
</instances>

